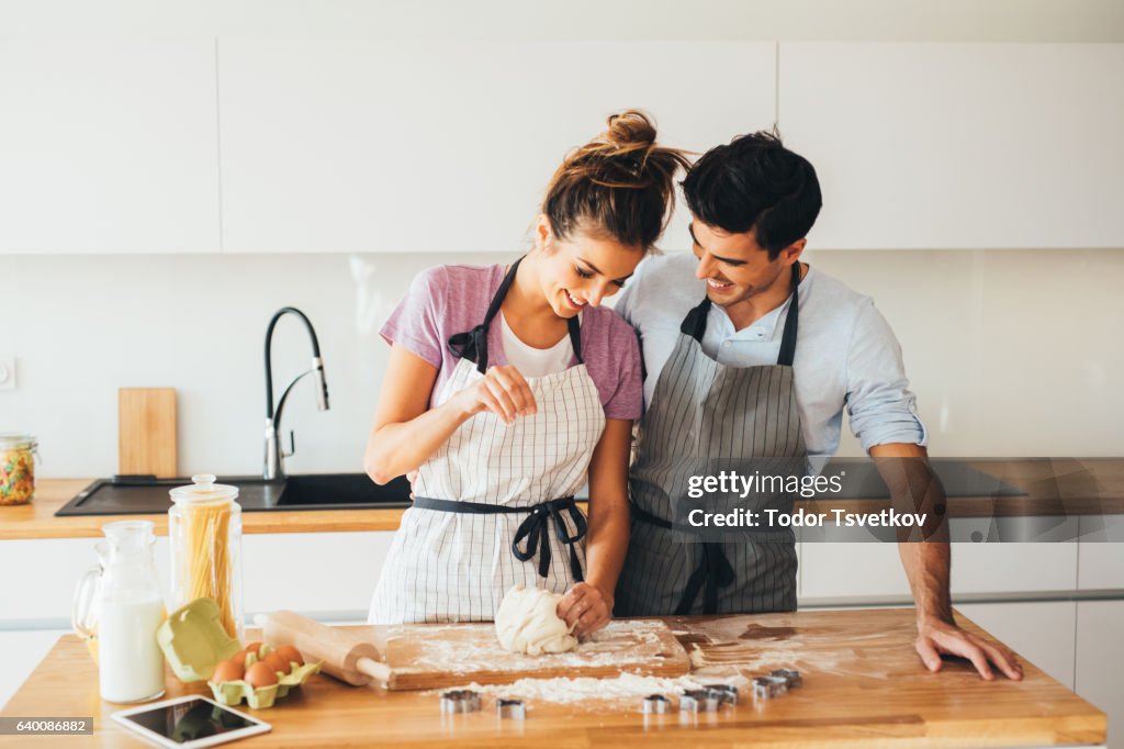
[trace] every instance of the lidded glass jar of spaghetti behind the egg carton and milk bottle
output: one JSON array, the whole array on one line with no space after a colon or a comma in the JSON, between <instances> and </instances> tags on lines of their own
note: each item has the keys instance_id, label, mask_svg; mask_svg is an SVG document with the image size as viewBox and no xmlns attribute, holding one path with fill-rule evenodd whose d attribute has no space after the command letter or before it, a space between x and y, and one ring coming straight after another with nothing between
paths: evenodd
<instances>
[{"instance_id":1,"label":"lidded glass jar of spaghetti behind the egg carton and milk bottle","mask_svg":"<svg viewBox=\"0 0 1124 749\"><path fill-rule=\"evenodd\" d=\"M238 489L215 477L191 477L171 490L167 536L172 547L172 608L214 598L227 634L245 640L242 613L242 507Z\"/></svg>"}]
</instances>

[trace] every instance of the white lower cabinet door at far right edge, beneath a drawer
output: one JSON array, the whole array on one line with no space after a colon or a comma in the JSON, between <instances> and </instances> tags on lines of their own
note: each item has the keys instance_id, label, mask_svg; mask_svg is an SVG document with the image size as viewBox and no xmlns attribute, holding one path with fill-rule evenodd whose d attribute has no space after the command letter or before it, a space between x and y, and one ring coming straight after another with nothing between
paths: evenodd
<instances>
[{"instance_id":1,"label":"white lower cabinet door at far right edge, beneath a drawer","mask_svg":"<svg viewBox=\"0 0 1124 749\"><path fill-rule=\"evenodd\" d=\"M1108 747L1124 749L1124 601L1077 604L1076 692L1108 715Z\"/></svg>"}]
</instances>

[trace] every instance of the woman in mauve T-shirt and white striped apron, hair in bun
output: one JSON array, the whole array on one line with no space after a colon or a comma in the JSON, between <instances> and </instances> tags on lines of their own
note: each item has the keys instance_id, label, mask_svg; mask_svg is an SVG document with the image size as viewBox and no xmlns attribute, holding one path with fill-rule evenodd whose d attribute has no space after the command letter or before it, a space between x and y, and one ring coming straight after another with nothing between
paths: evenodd
<instances>
[{"instance_id":1,"label":"woman in mauve T-shirt and white striped apron, hair in bun","mask_svg":"<svg viewBox=\"0 0 1124 749\"><path fill-rule=\"evenodd\" d=\"M611 616L642 392L635 332L599 305L662 233L687 162L641 112L608 125L554 173L529 254L425 271L382 328L365 468L417 475L373 623L491 620L513 585L564 592L577 634Z\"/></svg>"}]
</instances>

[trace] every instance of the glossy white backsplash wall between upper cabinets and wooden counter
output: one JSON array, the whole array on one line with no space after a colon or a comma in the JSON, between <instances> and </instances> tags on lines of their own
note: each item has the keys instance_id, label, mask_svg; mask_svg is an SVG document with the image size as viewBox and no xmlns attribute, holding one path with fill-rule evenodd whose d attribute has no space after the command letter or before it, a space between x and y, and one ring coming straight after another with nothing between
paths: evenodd
<instances>
[{"instance_id":1,"label":"glossy white backsplash wall between upper cabinets and wooden counter","mask_svg":"<svg viewBox=\"0 0 1124 749\"><path fill-rule=\"evenodd\" d=\"M815 244L815 232L810 237ZM669 237L669 249L681 249ZM16 255L0 258L0 432L40 441L44 477L117 467L118 387L179 390L180 472L254 473L262 341L293 305L320 337L332 409L291 396L291 471L359 471L387 346L377 330L418 270L479 255ZM905 352L939 455L1124 454L1124 251L809 253L874 297ZM307 366L301 326L274 336L275 381ZM843 451L855 454L853 440Z\"/></svg>"}]
</instances>

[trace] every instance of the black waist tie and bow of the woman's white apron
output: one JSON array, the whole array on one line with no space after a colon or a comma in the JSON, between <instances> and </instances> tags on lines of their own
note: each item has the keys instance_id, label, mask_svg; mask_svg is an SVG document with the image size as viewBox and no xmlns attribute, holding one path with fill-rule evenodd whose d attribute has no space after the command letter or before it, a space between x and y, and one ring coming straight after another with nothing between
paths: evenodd
<instances>
[{"instance_id":1,"label":"black waist tie and bow of the woman's white apron","mask_svg":"<svg viewBox=\"0 0 1124 749\"><path fill-rule=\"evenodd\" d=\"M472 515L500 515L524 513L527 518L519 524L511 540L511 553L519 561L529 561L538 552L538 576L547 577L551 569L550 524L554 522L554 534L570 550L570 571L577 583L586 578L581 571L581 560L578 559L578 541L586 538L586 516L578 509L573 497L561 497L532 505L531 507L508 507L506 505L487 505L479 502L457 502L454 499L434 499L417 497L414 506L422 509L435 509L445 513L468 513ZM574 533L570 535L562 512L570 514ZM520 547L522 544L522 547Z\"/></svg>"}]
</instances>

